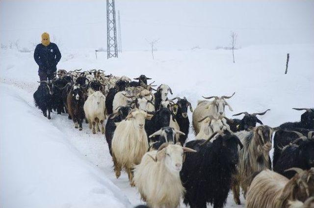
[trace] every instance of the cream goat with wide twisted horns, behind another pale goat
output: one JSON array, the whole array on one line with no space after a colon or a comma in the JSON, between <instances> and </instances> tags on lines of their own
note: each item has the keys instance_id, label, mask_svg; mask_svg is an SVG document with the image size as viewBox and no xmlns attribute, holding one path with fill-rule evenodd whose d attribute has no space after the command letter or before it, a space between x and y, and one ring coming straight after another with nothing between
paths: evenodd
<instances>
[{"instance_id":1,"label":"cream goat with wide twisted horns, behind another pale goat","mask_svg":"<svg viewBox=\"0 0 314 208\"><path fill-rule=\"evenodd\" d=\"M213 116L218 117L220 115L225 116L225 106L227 105L229 107L229 110L233 111L230 104L225 101L225 99L232 98L235 95L232 94L232 96L210 96L210 97L203 97L205 99L211 99L214 98L213 101L199 101L196 108L194 109L194 112L192 114L192 123L194 128L195 135L198 134L198 132L201 129L201 125L198 122L201 118L205 116Z\"/></svg>"}]
</instances>

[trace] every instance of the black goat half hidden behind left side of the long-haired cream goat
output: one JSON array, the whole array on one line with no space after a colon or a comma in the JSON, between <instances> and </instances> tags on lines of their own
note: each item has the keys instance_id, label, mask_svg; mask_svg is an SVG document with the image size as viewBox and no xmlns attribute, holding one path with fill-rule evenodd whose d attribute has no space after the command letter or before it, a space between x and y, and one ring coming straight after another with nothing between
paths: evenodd
<instances>
[{"instance_id":1,"label":"black goat half hidden behind left side of the long-haired cream goat","mask_svg":"<svg viewBox=\"0 0 314 208\"><path fill-rule=\"evenodd\" d=\"M106 141L108 143L109 153L111 156L112 156L111 141L112 141L113 133L116 130L115 123L126 119L126 117L129 115L129 112L131 111L131 109L132 108L130 106L121 106L119 108L118 112L111 114L108 117L108 120L107 120L107 123L105 126L105 137L106 137Z\"/></svg>"}]
</instances>

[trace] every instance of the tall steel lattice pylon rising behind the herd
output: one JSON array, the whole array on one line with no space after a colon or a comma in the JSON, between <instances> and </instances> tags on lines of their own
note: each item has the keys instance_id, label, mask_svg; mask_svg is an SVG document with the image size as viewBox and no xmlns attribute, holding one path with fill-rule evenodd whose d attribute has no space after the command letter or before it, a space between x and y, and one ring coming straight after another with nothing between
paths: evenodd
<instances>
[{"instance_id":1,"label":"tall steel lattice pylon rising behind the herd","mask_svg":"<svg viewBox=\"0 0 314 208\"><path fill-rule=\"evenodd\" d=\"M114 0L107 0L107 58L118 57Z\"/></svg>"}]
</instances>

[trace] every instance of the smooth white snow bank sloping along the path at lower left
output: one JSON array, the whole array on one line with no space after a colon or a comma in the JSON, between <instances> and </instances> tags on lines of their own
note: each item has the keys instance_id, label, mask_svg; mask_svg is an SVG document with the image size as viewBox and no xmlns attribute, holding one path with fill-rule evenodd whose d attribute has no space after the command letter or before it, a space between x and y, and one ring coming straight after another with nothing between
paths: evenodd
<instances>
[{"instance_id":1,"label":"smooth white snow bank sloping along the path at lower left","mask_svg":"<svg viewBox=\"0 0 314 208\"><path fill-rule=\"evenodd\" d=\"M130 205L119 188L34 108L30 94L5 84L0 89L1 208Z\"/></svg>"}]
</instances>

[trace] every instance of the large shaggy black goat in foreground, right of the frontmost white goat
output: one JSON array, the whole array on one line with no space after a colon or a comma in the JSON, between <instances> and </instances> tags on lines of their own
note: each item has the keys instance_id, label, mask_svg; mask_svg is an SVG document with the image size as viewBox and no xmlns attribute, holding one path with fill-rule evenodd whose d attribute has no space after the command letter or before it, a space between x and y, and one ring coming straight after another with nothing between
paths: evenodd
<instances>
[{"instance_id":1,"label":"large shaggy black goat in foreground, right of the frontmost white goat","mask_svg":"<svg viewBox=\"0 0 314 208\"><path fill-rule=\"evenodd\" d=\"M180 172L186 190L184 204L191 208L206 208L207 203L214 208L222 208L227 201L238 162L240 140L229 131L220 133L211 143L208 140L194 140L186 143L196 153L186 153Z\"/></svg>"}]
</instances>

